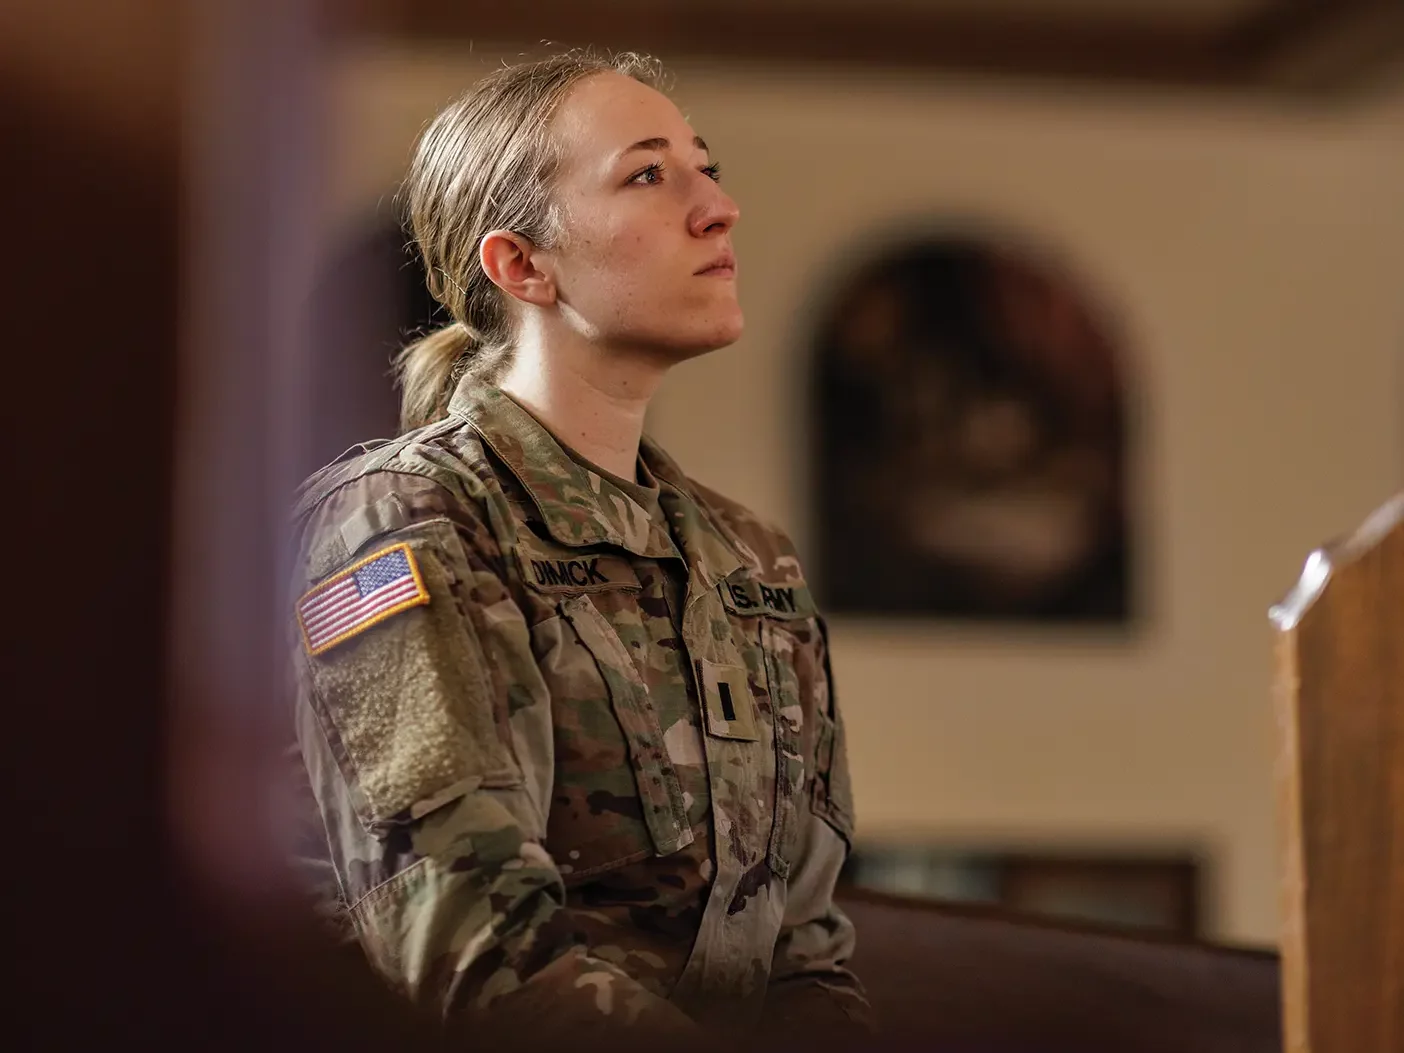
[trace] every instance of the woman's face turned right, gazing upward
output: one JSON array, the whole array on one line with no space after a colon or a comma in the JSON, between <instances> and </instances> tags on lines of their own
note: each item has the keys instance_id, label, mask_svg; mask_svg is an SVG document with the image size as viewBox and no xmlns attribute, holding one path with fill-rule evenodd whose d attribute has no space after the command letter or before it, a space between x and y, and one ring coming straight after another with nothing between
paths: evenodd
<instances>
[{"instance_id":1,"label":"woman's face turned right, gazing upward","mask_svg":"<svg viewBox=\"0 0 1404 1053\"><path fill-rule=\"evenodd\" d=\"M576 86L553 132L563 233L549 257L567 324L668 361L740 337L736 202L678 108L646 84L602 73Z\"/></svg>"}]
</instances>

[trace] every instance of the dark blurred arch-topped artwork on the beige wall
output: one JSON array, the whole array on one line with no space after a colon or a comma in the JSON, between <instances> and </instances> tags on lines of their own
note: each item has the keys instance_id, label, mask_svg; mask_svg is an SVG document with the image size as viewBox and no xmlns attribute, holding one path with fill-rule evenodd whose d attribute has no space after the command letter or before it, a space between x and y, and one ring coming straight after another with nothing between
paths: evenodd
<instances>
[{"instance_id":1,"label":"dark blurred arch-topped artwork on the beige wall","mask_svg":"<svg viewBox=\"0 0 1404 1053\"><path fill-rule=\"evenodd\" d=\"M900 243L816 334L817 585L833 612L1126 625L1126 357L1070 274L988 237Z\"/></svg>"}]
</instances>

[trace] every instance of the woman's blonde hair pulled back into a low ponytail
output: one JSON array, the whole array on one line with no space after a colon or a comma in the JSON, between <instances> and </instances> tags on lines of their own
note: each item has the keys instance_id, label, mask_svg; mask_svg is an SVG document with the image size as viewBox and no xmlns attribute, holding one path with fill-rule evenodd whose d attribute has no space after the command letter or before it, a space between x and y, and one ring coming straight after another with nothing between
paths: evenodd
<instances>
[{"instance_id":1,"label":"woman's blonde hair pulled back into a low ponytail","mask_svg":"<svg viewBox=\"0 0 1404 1053\"><path fill-rule=\"evenodd\" d=\"M570 90L597 73L661 88L663 69L636 52L570 51L494 70L435 117L404 183L409 226L430 293L453 319L396 357L400 425L439 420L462 376L489 378L511 355L511 319L483 272L479 244L512 230L542 249L560 233L552 180L560 157L549 125Z\"/></svg>"}]
</instances>

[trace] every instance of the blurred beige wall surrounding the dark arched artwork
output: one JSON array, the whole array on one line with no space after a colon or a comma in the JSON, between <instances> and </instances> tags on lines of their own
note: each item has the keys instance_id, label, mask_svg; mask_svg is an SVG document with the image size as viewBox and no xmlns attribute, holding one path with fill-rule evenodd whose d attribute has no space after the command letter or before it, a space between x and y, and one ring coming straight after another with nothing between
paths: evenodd
<instances>
[{"instance_id":1,"label":"blurred beige wall surrounding the dark arched artwork","mask_svg":"<svg viewBox=\"0 0 1404 1053\"><path fill-rule=\"evenodd\" d=\"M463 53L336 69L329 222L392 191ZM807 309L913 218L1061 251L1122 312L1147 621L1130 643L837 619L866 838L1213 852L1210 929L1276 934L1266 607L1404 482L1404 93L1346 111L678 69L743 220L747 334L654 431L802 550Z\"/></svg>"}]
</instances>

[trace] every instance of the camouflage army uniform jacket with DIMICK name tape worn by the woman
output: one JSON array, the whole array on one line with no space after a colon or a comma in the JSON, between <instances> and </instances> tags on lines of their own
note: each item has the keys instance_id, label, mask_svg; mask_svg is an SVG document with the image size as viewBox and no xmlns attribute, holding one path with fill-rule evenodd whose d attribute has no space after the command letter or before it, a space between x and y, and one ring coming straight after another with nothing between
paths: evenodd
<instances>
[{"instance_id":1,"label":"camouflage army uniform jacket with DIMICK name tape worn by the woman","mask_svg":"<svg viewBox=\"0 0 1404 1053\"><path fill-rule=\"evenodd\" d=\"M472 382L303 486L298 743L340 910L451 1021L865 1028L823 622L782 534L647 438L640 465ZM306 636L396 546L423 595Z\"/></svg>"}]
</instances>

